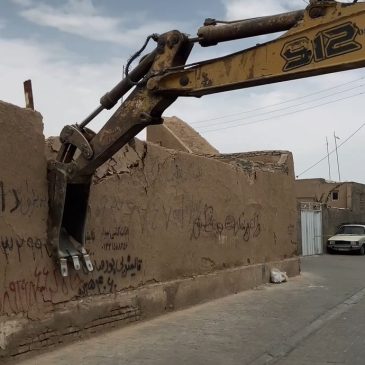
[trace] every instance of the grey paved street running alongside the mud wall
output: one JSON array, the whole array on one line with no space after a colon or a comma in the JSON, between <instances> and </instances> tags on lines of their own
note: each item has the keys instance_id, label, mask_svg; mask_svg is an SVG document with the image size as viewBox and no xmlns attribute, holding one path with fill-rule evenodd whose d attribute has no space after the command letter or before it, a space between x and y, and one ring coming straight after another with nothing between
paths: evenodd
<instances>
[{"instance_id":1,"label":"grey paved street running alongside the mud wall","mask_svg":"<svg viewBox=\"0 0 365 365\"><path fill-rule=\"evenodd\" d=\"M365 257L302 259L302 274L56 349L21 365L365 364Z\"/></svg>"}]
</instances>

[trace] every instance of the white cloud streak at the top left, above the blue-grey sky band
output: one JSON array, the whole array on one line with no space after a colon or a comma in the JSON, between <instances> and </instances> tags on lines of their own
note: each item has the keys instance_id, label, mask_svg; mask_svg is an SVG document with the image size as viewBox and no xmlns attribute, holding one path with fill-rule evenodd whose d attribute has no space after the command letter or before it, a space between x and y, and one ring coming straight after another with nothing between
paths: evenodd
<instances>
[{"instance_id":1,"label":"white cloud streak at the top left, above the blue-grey sky band","mask_svg":"<svg viewBox=\"0 0 365 365\"><path fill-rule=\"evenodd\" d=\"M176 24L166 22L136 23L143 14L133 14L133 26L130 17L111 17L101 14L91 0L68 0L55 6L30 0L13 0L24 7L20 15L26 20L61 32L77 35L95 41L111 42L125 46L134 46L148 34L175 29Z\"/></svg>"}]
</instances>

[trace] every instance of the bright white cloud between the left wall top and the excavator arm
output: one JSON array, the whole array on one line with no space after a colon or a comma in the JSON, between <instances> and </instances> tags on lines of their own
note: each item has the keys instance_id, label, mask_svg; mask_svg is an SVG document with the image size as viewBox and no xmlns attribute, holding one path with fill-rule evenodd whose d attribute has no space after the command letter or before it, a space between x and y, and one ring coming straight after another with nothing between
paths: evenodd
<instances>
[{"instance_id":1,"label":"bright white cloud between the left wall top and the excavator arm","mask_svg":"<svg viewBox=\"0 0 365 365\"><path fill-rule=\"evenodd\" d=\"M0 38L0 54L6 54L0 63L0 100L23 106L23 81L31 79L35 107L48 136L85 118L121 77L119 59L73 64L61 46ZM104 124L106 115L94 126Z\"/></svg>"}]
</instances>

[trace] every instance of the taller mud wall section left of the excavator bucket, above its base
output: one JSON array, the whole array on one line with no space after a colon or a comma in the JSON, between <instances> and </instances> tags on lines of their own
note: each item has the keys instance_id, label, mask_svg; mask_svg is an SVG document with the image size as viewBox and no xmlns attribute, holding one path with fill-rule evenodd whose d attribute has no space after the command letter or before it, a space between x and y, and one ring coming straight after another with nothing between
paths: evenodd
<instances>
[{"instance_id":1,"label":"taller mud wall section left of the excavator bucket, above its base","mask_svg":"<svg viewBox=\"0 0 365 365\"><path fill-rule=\"evenodd\" d=\"M53 266L41 116L0 103L0 150L0 314L37 316L49 299L37 277Z\"/></svg>"}]
</instances>

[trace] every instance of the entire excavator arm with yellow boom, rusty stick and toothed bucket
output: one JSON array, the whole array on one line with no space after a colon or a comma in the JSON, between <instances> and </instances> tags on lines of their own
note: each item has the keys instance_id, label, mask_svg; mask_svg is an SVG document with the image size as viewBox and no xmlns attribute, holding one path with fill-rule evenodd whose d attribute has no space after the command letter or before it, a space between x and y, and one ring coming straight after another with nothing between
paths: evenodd
<instances>
[{"instance_id":1,"label":"entire excavator arm with yellow boom, rusty stick and toothed bucket","mask_svg":"<svg viewBox=\"0 0 365 365\"><path fill-rule=\"evenodd\" d=\"M68 275L80 258L93 270L85 249L85 222L94 171L161 115L179 96L200 97L256 85L365 66L365 4L312 0L305 10L217 25L213 19L189 38L179 31L154 37L157 46L81 124L66 126L62 147L49 161L48 240ZM186 64L194 44L286 31L270 42L225 57ZM133 88L97 133L87 124Z\"/></svg>"}]
</instances>

